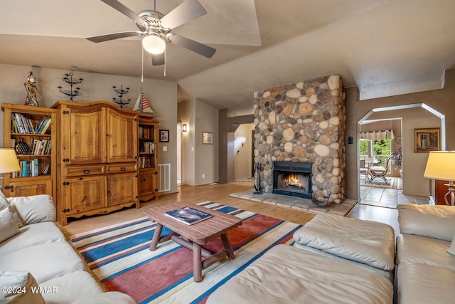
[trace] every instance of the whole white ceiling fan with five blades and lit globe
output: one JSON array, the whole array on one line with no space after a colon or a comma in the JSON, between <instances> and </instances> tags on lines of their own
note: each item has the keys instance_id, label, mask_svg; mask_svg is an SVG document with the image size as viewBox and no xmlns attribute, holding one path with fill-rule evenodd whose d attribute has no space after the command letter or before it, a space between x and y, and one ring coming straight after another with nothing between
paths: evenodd
<instances>
[{"instance_id":1,"label":"whole white ceiling fan with five blades and lit globe","mask_svg":"<svg viewBox=\"0 0 455 304\"><path fill-rule=\"evenodd\" d=\"M188 50L205 56L206 58L212 58L216 51L215 48L206 46L203 43L172 33L173 28L207 14L207 11L205 11L197 0L183 1L182 4L170 11L166 16L159 11L156 11L155 7L153 10L141 11L139 14L136 14L117 0L101 1L136 22L139 31L122 31L87 37L90 41L103 42L144 35L145 37L142 39L142 46L147 52L151 53L151 62L153 65L164 64L166 43L175 43L178 46L188 48Z\"/></svg>"}]
</instances>

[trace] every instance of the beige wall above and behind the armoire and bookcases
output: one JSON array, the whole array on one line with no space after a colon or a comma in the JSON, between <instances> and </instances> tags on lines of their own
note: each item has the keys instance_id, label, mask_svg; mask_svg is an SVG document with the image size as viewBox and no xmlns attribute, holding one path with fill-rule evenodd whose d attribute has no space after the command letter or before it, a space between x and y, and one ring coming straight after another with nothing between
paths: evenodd
<instances>
[{"instance_id":1,"label":"beige wall above and behind the armoire and bookcases","mask_svg":"<svg viewBox=\"0 0 455 304\"><path fill-rule=\"evenodd\" d=\"M63 82L62 78L69 70L55 70L49 68L37 68L23 65L0 64L0 101L1 103L13 103L23 105L25 98L25 88L23 83L27 81L30 71L36 77L38 89L44 92L40 100L40 106L50 108L58 100L69 100L68 96L60 93L58 86L63 90L69 90L70 85ZM79 103L89 103L95 100L107 100L112 102L112 98L118 98L117 93L112 89L113 85L123 88L129 87L129 94L124 95L123 99L131 99L129 105L124 105L125 109L132 110L137 97L141 93L141 88L146 93L151 108L158 115L159 128L169 130L169 142L158 143L158 162L159 164L171 164L171 192L177 191L177 170L176 170L176 126L177 126L177 83L167 80L144 79L126 77L120 75L105 75L98 73L73 72L75 78L83 78L80 86L82 95L74 100ZM0 125L3 131L4 115L1 112ZM3 132L0 132L0 145L3 147ZM167 147L167 152L163 151L163 146ZM161 194L166 194L162 192Z\"/></svg>"}]
</instances>

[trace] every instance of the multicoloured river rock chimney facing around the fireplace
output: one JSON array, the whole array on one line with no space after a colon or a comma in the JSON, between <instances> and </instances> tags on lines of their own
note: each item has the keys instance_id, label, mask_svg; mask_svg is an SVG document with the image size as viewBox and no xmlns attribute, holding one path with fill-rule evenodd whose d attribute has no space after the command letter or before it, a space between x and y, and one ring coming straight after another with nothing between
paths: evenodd
<instances>
[{"instance_id":1,"label":"multicoloured river rock chimney facing around the fireplace","mask_svg":"<svg viewBox=\"0 0 455 304\"><path fill-rule=\"evenodd\" d=\"M255 162L261 188L272 192L273 162L311 162L317 199L346 198L345 93L339 75L262 90L255 100Z\"/></svg>"}]
</instances>

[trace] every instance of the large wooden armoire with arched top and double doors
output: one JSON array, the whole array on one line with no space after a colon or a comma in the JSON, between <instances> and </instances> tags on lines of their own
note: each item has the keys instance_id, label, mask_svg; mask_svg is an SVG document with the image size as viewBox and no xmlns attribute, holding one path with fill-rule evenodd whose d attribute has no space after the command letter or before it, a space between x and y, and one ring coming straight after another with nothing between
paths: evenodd
<instances>
[{"instance_id":1,"label":"large wooden armoire with arched top and double doors","mask_svg":"<svg viewBox=\"0 0 455 304\"><path fill-rule=\"evenodd\" d=\"M52 108L58 125L58 222L139 208L139 112L107 101L58 101Z\"/></svg>"}]
</instances>

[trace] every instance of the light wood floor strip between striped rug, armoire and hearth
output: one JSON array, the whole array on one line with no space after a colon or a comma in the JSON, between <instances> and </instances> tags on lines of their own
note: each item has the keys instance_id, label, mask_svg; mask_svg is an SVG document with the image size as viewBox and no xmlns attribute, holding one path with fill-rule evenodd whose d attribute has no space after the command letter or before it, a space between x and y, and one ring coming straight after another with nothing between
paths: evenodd
<instances>
[{"instance_id":1,"label":"light wood floor strip between striped rug, armoire and hearth","mask_svg":"<svg viewBox=\"0 0 455 304\"><path fill-rule=\"evenodd\" d=\"M229 196L231 193L242 192L247 189L250 189L250 187L237 184L213 184L197 187L181 186L178 187L178 193L160 196L158 201L151 200L141 203L141 208L139 209L135 209L133 207L102 216L87 216L81 219L70 219L68 221L68 225L62 226L60 229L62 229L63 234L65 234L68 238L71 235L80 234L92 229L98 229L112 224L117 224L122 221L137 219L144 216L142 211L145 209L175 201L186 201L188 203L215 201L220 204L272 216L276 219L291 221L296 224L305 224L314 216L314 214L305 211L289 209L287 207L275 206L272 204L264 204L256 201L247 201L245 199L237 199Z\"/></svg>"}]
</instances>

